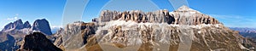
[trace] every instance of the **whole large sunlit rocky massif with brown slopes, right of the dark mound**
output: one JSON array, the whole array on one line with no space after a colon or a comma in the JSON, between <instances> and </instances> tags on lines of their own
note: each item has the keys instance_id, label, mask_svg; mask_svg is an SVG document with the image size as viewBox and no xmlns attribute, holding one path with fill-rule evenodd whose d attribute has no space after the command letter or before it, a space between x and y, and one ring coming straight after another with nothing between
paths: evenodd
<instances>
[{"instance_id":1,"label":"whole large sunlit rocky massif with brown slopes, right of the dark mound","mask_svg":"<svg viewBox=\"0 0 256 51\"><path fill-rule=\"evenodd\" d=\"M207 14L182 6L169 12L102 11L93 22L68 24L55 45L88 51L241 51L255 47ZM243 44L252 45L251 47Z\"/></svg>"}]
</instances>

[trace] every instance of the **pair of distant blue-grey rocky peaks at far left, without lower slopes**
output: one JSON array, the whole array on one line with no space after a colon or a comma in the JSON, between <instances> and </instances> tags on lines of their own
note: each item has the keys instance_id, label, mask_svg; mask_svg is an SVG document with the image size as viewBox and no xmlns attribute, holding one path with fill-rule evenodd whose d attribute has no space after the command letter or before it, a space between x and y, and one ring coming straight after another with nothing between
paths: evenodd
<instances>
[{"instance_id":1,"label":"pair of distant blue-grey rocky peaks at far left, without lower slopes","mask_svg":"<svg viewBox=\"0 0 256 51\"><path fill-rule=\"evenodd\" d=\"M52 31L49 26L48 20L35 20L31 26L28 21L24 24L22 20L16 20L15 22L10 22L8 25L4 26L3 32L8 32L9 34L15 34L15 32L26 33L32 31L42 31L46 35L51 35Z\"/></svg>"}]
</instances>

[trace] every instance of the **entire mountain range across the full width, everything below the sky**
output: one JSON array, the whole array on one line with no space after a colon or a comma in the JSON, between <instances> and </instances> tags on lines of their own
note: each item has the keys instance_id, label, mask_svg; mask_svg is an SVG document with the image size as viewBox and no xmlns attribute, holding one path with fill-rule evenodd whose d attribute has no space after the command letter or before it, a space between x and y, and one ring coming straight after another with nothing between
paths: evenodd
<instances>
[{"instance_id":1,"label":"entire mountain range across the full width, everything below the sky","mask_svg":"<svg viewBox=\"0 0 256 51\"><path fill-rule=\"evenodd\" d=\"M49 22L17 20L0 32L1 50L36 51L244 51L255 43L212 16L182 6L160 9L104 10L92 22L76 21L51 32ZM21 36L22 37L21 37ZM6 43L11 45L5 45Z\"/></svg>"}]
</instances>

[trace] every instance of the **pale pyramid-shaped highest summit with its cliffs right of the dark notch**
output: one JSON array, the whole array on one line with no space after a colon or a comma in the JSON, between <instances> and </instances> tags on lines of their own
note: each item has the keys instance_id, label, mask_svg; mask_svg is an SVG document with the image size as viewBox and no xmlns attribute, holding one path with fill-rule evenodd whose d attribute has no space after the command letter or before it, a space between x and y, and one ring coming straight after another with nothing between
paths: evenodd
<instances>
[{"instance_id":1,"label":"pale pyramid-shaped highest summit with its cliffs right of the dark notch","mask_svg":"<svg viewBox=\"0 0 256 51\"><path fill-rule=\"evenodd\" d=\"M201 25L201 24L221 24L218 20L212 18L207 14L201 14L187 6L177 8L177 10L170 13L175 20L174 24L179 25Z\"/></svg>"}]
</instances>

